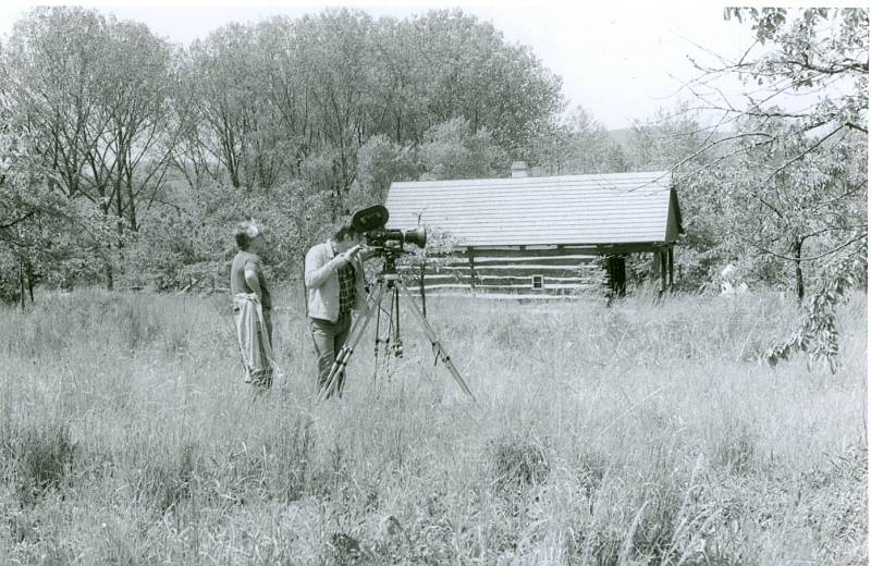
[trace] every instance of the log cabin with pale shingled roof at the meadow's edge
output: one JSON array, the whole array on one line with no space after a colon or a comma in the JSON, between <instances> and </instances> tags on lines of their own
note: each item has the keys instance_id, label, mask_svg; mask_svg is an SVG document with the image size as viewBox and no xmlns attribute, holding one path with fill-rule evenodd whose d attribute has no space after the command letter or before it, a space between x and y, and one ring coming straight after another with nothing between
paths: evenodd
<instances>
[{"instance_id":1,"label":"log cabin with pale shingled roof at the meadow's edge","mask_svg":"<svg viewBox=\"0 0 871 566\"><path fill-rule=\"evenodd\" d=\"M427 267L427 294L555 297L619 296L625 258L652 253L665 292L674 284L674 245L684 232L671 173L394 182L388 227L450 234L446 262ZM416 285L415 285L416 286Z\"/></svg>"}]
</instances>

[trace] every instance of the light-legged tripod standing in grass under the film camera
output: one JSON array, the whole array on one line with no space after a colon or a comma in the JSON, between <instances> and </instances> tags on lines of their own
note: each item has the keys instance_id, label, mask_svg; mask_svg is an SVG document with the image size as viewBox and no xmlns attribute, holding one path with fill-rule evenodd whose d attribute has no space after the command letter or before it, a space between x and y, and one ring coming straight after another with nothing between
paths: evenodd
<instances>
[{"instance_id":1,"label":"light-legged tripod standing in grass under the film camera","mask_svg":"<svg viewBox=\"0 0 871 566\"><path fill-rule=\"evenodd\" d=\"M383 271L377 275L376 284L369 292L369 296L366 297L365 310L357 317L357 319L354 321L354 324L352 324L345 345L342 346L342 349L340 349L339 354L335 356L333 367L330 369L330 376L327 378L327 385L320 391L318 398L327 398L333 394L333 391L339 383L338 378L345 371L348 359L351 359L351 355L354 354L354 348L357 347L360 339L363 339L369 322L372 320L372 316L375 316L376 312L381 311L381 302L385 295L390 295L391 300L391 328L389 330L391 335L389 336L388 342L393 342L392 346L394 348L394 354L397 357L402 356L402 340L400 339L400 295L405 295L405 297L408 299L408 304L412 305L412 313L420 323L430 344L432 344L433 354L436 354L437 358L440 359L445 367L447 367L447 371L451 372L451 377L454 378L454 381L456 381L457 385L459 385L459 389L463 390L463 393L468 395L473 401L476 401L471 390L469 390L469 386L459 376L459 372L451 361L451 356L449 356L442 347L436 331L432 330L432 327L429 324L429 322L427 322L427 319L424 318L424 313L420 312L420 308L417 306L417 303L415 303L415 299L412 296L412 293L408 291L408 287L405 286L405 283L403 283L402 279L400 279L400 275L396 273L396 257L390 253L384 258ZM380 337L376 336L376 371L378 371L377 357L379 342Z\"/></svg>"}]
</instances>

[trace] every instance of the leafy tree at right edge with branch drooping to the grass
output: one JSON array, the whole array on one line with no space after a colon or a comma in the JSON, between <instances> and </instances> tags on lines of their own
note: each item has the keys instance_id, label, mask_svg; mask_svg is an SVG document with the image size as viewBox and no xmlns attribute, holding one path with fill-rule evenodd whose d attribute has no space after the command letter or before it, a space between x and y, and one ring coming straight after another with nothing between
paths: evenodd
<instances>
[{"instance_id":1,"label":"leafy tree at right edge with branch drooping to the grass","mask_svg":"<svg viewBox=\"0 0 871 566\"><path fill-rule=\"evenodd\" d=\"M744 232L729 231L733 247L741 241L769 264L792 264L799 300L806 266L819 264L799 330L773 346L769 359L805 350L831 361L837 353L833 306L846 286L863 280L845 266L867 270L868 10L748 8L727 9L725 16L749 23L756 44L736 61L697 64L703 74L690 90L702 108L721 112L721 124L737 125L708 147L739 140L714 160L720 171L706 172L725 181L722 200L747 223ZM752 85L746 106L710 88L722 75ZM778 106L784 95L803 106Z\"/></svg>"}]
</instances>

